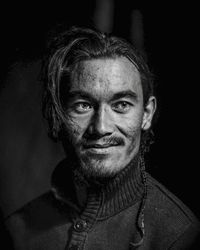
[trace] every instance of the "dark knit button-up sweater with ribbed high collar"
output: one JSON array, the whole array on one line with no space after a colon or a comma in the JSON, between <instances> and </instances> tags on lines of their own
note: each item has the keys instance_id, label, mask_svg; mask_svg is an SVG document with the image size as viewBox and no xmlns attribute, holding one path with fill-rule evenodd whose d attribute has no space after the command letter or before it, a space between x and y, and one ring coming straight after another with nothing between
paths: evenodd
<instances>
[{"instance_id":1,"label":"dark knit button-up sweater with ribbed high collar","mask_svg":"<svg viewBox=\"0 0 200 250\"><path fill-rule=\"evenodd\" d=\"M144 183L139 161L115 178L87 183L66 160L52 178L52 190L6 220L20 250L198 249L200 226L193 213L147 174L145 234L138 228ZM87 199L84 199L84 197Z\"/></svg>"}]
</instances>

